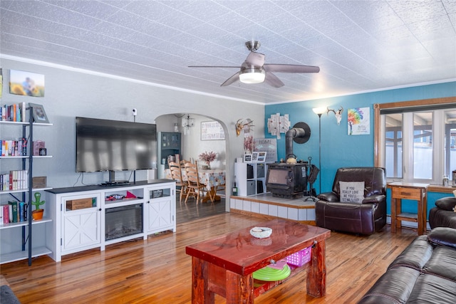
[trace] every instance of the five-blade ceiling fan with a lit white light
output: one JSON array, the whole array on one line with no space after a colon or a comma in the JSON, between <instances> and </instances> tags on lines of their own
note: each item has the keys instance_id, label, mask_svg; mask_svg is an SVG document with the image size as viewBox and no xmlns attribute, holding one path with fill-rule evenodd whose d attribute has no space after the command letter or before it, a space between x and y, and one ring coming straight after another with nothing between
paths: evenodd
<instances>
[{"instance_id":1,"label":"five-blade ceiling fan with a lit white light","mask_svg":"<svg viewBox=\"0 0 456 304\"><path fill-rule=\"evenodd\" d=\"M280 88L284 85L274 73L318 73L320 68L312 65L264 63L264 54L257 53L259 41L245 43L250 53L241 66L190 65L189 68L239 68L239 72L222 83L222 87L231 85L236 80L242 83L263 83ZM274 73L273 73L274 72Z\"/></svg>"}]
</instances>

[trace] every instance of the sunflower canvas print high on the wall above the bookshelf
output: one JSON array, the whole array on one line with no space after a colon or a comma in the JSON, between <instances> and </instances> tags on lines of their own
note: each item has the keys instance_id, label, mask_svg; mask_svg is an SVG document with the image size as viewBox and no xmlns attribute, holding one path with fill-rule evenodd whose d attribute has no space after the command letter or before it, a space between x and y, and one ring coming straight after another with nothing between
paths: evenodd
<instances>
[{"instance_id":1,"label":"sunflower canvas print high on the wall above the bookshelf","mask_svg":"<svg viewBox=\"0 0 456 304\"><path fill-rule=\"evenodd\" d=\"M9 93L44 97L44 75L24 70L10 70Z\"/></svg>"}]
</instances>

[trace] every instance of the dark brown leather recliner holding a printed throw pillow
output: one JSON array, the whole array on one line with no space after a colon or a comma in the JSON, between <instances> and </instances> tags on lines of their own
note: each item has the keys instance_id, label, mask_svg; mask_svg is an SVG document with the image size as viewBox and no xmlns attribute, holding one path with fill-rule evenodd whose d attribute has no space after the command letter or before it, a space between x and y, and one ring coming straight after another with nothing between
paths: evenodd
<instances>
[{"instance_id":1,"label":"dark brown leather recliner holding a printed throw pillow","mask_svg":"<svg viewBox=\"0 0 456 304\"><path fill-rule=\"evenodd\" d=\"M341 201L340 182L364 182L364 193L358 202L344 191ZM362 189L361 191L362 192ZM353 234L373 234L386 224L386 174L379 167L339 168L333 190L321 193L315 203L316 226ZM342 199L343 200L343 199Z\"/></svg>"}]
</instances>

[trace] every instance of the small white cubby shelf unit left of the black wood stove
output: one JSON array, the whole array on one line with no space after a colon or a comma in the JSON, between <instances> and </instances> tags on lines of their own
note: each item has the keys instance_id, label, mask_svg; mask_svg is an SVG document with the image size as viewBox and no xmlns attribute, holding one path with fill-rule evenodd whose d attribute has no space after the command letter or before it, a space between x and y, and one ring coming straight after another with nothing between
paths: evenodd
<instances>
[{"instance_id":1,"label":"small white cubby shelf unit left of the black wood stove","mask_svg":"<svg viewBox=\"0 0 456 304\"><path fill-rule=\"evenodd\" d=\"M237 195L251 196L266 192L266 162L235 162L234 177Z\"/></svg>"}]
</instances>

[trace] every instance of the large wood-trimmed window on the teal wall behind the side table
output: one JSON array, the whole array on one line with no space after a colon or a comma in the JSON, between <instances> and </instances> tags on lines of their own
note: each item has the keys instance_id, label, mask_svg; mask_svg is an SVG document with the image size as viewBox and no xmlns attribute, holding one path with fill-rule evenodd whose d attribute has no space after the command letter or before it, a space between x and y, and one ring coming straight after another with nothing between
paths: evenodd
<instances>
[{"instance_id":1,"label":"large wood-trimmed window on the teal wall behind the side table","mask_svg":"<svg viewBox=\"0 0 456 304\"><path fill-rule=\"evenodd\" d=\"M378 104L375 166L388 182L442 184L456 170L456 98ZM378 133L378 134L377 134Z\"/></svg>"}]
</instances>

